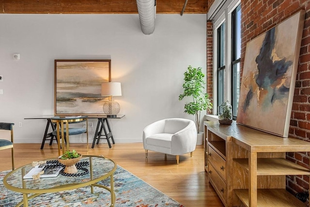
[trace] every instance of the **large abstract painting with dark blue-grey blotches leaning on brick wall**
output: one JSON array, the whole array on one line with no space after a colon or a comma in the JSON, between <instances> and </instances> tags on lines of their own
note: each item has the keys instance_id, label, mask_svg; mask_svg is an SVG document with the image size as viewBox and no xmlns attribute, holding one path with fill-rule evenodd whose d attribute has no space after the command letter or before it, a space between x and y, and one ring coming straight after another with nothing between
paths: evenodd
<instances>
[{"instance_id":1,"label":"large abstract painting with dark blue-grey blotches leaning on brick wall","mask_svg":"<svg viewBox=\"0 0 310 207\"><path fill-rule=\"evenodd\" d=\"M304 11L247 44L237 123L288 137Z\"/></svg>"}]
</instances>

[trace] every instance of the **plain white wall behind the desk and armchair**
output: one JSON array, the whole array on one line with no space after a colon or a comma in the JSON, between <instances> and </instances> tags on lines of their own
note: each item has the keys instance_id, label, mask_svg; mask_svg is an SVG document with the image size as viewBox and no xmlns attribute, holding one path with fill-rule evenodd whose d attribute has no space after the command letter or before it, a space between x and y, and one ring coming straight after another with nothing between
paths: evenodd
<instances>
[{"instance_id":1,"label":"plain white wall behind the desk and armchair","mask_svg":"<svg viewBox=\"0 0 310 207\"><path fill-rule=\"evenodd\" d=\"M110 119L115 142L142 142L143 128L156 120L195 120L178 96L188 65L205 71L206 15L157 15L155 32L145 35L138 15L0 14L0 122L15 123L16 143L42 142L46 120L24 118L54 113L55 59L111 59L125 114ZM97 120L90 122L92 141Z\"/></svg>"}]
</instances>

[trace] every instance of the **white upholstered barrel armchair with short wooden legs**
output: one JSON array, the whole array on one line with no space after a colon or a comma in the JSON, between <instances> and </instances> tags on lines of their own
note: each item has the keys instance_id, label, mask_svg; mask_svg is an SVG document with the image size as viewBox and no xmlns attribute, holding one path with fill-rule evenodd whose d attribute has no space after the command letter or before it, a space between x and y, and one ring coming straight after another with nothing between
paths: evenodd
<instances>
[{"instance_id":1,"label":"white upholstered barrel armchair with short wooden legs","mask_svg":"<svg viewBox=\"0 0 310 207\"><path fill-rule=\"evenodd\" d=\"M188 119L170 118L156 121L143 130L145 157L148 150L176 155L179 164L180 155L196 149L197 130L195 122Z\"/></svg>"}]
</instances>

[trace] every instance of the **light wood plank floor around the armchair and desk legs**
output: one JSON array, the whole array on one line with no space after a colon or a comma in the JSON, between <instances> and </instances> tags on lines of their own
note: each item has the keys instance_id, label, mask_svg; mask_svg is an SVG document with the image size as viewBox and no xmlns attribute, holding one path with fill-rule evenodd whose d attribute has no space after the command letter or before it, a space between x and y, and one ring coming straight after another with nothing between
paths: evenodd
<instances>
[{"instance_id":1,"label":"light wood plank floor around the armchair and desk legs","mask_svg":"<svg viewBox=\"0 0 310 207\"><path fill-rule=\"evenodd\" d=\"M40 150L39 143L15 143L15 167L47 158L57 158L57 144L45 144ZM72 143L70 149L76 149L86 155L86 144ZM140 177L142 180L167 194L185 207L223 207L204 172L203 145L197 145L190 153L180 156L180 164L176 164L175 156L157 152L145 152L142 143L116 143L109 148L107 143L95 145L89 149L89 155L104 155L116 161L118 165ZM11 150L0 151L0 171L10 170Z\"/></svg>"}]
</instances>

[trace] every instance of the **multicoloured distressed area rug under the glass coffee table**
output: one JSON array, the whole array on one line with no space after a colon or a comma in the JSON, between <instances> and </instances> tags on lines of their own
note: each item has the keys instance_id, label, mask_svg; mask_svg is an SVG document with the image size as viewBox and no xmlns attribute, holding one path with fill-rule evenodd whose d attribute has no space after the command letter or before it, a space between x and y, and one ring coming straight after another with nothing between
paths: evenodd
<instances>
[{"instance_id":1,"label":"multicoloured distressed area rug under the glass coffee table","mask_svg":"<svg viewBox=\"0 0 310 207\"><path fill-rule=\"evenodd\" d=\"M3 186L3 177L10 171L0 172L0 207L14 207L22 201L22 194ZM99 182L109 186L106 179ZM184 207L164 193L156 190L139 177L117 166L114 173L115 207ZM72 191L45 193L29 200L29 207L109 207L109 191L83 187Z\"/></svg>"}]
</instances>

